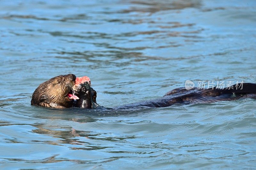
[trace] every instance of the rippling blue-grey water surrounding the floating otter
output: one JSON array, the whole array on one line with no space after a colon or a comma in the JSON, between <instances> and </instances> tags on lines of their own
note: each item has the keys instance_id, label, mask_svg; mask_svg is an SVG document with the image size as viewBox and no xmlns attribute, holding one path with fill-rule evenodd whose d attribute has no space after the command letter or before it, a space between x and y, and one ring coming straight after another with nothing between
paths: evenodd
<instances>
[{"instance_id":1,"label":"rippling blue-grey water surrounding the floating otter","mask_svg":"<svg viewBox=\"0 0 256 170\"><path fill-rule=\"evenodd\" d=\"M255 169L256 101L126 111L30 106L57 75L104 107L186 80L255 82L255 1L0 1L1 169Z\"/></svg>"}]
</instances>

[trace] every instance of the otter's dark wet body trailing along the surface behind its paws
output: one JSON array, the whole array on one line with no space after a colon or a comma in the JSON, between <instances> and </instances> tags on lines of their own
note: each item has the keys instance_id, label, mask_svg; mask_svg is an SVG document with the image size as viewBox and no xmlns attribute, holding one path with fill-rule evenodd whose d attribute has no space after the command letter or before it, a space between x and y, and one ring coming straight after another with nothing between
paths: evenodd
<instances>
[{"instance_id":1,"label":"otter's dark wet body trailing along the surface behind its paws","mask_svg":"<svg viewBox=\"0 0 256 170\"><path fill-rule=\"evenodd\" d=\"M233 85L235 87L235 85ZM173 104L196 104L213 103L217 101L232 101L245 98L256 98L256 84L244 83L243 89L197 89L187 90L185 88L173 89L167 92L164 97L132 103L115 107L115 109L129 109L134 107L168 107Z\"/></svg>"}]
</instances>

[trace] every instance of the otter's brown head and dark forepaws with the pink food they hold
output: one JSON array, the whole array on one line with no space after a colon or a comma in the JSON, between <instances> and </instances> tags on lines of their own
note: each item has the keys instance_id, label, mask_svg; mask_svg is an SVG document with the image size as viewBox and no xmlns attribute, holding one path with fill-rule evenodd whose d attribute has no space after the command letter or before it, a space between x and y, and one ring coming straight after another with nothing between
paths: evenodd
<instances>
[{"instance_id":1,"label":"otter's brown head and dark forepaws with the pink food they hold","mask_svg":"<svg viewBox=\"0 0 256 170\"><path fill-rule=\"evenodd\" d=\"M31 105L96 108L98 106L96 97L97 93L92 89L88 77L81 82L74 74L67 74L56 76L40 84L32 95Z\"/></svg>"}]
</instances>

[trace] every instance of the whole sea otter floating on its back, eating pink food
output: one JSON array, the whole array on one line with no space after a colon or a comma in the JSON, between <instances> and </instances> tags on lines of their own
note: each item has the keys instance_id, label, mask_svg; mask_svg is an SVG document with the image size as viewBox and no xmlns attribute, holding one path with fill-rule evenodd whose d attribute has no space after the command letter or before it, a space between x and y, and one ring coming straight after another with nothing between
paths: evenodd
<instances>
[{"instance_id":1,"label":"whole sea otter floating on its back, eating pink food","mask_svg":"<svg viewBox=\"0 0 256 170\"><path fill-rule=\"evenodd\" d=\"M85 79L83 79L85 78ZM31 105L43 107L81 107L94 109L97 93L91 87L88 77L76 78L74 74L60 75L40 84L32 95ZM238 87L241 84L238 84ZM235 87L235 85L233 85ZM256 98L256 84L243 83L243 88L197 89L177 88L166 93L162 98L139 103L132 103L113 109L135 107L168 107L176 103L195 104L230 101L247 97ZM74 100L76 99L76 100Z\"/></svg>"}]
</instances>

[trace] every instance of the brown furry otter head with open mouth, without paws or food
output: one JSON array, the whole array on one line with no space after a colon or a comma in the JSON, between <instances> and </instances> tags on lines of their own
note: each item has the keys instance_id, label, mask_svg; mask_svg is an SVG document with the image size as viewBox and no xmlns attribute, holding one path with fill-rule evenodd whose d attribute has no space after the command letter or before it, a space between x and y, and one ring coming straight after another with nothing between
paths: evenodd
<instances>
[{"instance_id":1,"label":"brown furry otter head with open mouth, without paws or food","mask_svg":"<svg viewBox=\"0 0 256 170\"><path fill-rule=\"evenodd\" d=\"M68 94L75 90L74 74L60 75L40 84L32 95L31 105L43 107L72 107Z\"/></svg>"}]
</instances>

